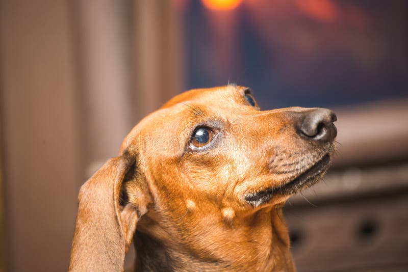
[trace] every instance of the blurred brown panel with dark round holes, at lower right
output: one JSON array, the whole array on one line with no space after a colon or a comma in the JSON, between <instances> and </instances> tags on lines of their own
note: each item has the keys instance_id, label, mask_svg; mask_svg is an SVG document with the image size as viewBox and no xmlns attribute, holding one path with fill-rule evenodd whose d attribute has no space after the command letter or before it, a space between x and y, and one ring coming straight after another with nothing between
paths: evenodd
<instances>
[{"instance_id":1,"label":"blurred brown panel with dark round holes, at lower right","mask_svg":"<svg viewBox=\"0 0 408 272\"><path fill-rule=\"evenodd\" d=\"M408 269L407 210L406 194L319 207L288 206L285 214L298 271Z\"/></svg>"}]
</instances>

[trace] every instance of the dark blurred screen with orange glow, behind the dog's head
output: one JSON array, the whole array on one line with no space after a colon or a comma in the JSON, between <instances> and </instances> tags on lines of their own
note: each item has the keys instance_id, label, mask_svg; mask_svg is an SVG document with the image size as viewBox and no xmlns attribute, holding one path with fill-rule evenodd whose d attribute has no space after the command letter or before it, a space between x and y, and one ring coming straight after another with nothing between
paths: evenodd
<instances>
[{"instance_id":1,"label":"dark blurred screen with orange glow, behind the dog's head","mask_svg":"<svg viewBox=\"0 0 408 272\"><path fill-rule=\"evenodd\" d=\"M408 96L403 0L174 3L185 32L186 89L249 86L264 109Z\"/></svg>"}]
</instances>

